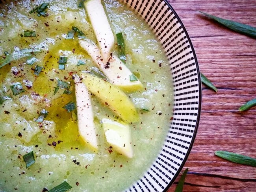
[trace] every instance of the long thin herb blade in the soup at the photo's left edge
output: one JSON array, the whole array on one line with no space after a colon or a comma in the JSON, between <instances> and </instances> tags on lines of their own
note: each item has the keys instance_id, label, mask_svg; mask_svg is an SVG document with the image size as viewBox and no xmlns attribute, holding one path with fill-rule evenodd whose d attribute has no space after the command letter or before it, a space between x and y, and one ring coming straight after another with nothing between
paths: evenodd
<instances>
[{"instance_id":1,"label":"long thin herb blade in the soup at the photo's left edge","mask_svg":"<svg viewBox=\"0 0 256 192\"><path fill-rule=\"evenodd\" d=\"M23 57L32 56L32 54L40 52L40 49L27 48L19 51L14 51L12 54L5 55L0 59L0 68L11 63L11 61L19 60Z\"/></svg>"}]
</instances>

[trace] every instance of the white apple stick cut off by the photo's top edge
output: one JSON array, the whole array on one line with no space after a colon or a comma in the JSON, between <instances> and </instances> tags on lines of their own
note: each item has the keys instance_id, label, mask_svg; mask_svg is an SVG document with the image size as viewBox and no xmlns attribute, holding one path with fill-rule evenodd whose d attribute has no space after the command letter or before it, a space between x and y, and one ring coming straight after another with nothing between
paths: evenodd
<instances>
[{"instance_id":1,"label":"white apple stick cut off by the photo's top edge","mask_svg":"<svg viewBox=\"0 0 256 192\"><path fill-rule=\"evenodd\" d=\"M84 7L91 20L103 61L108 61L115 38L100 0L87 0Z\"/></svg>"}]
</instances>

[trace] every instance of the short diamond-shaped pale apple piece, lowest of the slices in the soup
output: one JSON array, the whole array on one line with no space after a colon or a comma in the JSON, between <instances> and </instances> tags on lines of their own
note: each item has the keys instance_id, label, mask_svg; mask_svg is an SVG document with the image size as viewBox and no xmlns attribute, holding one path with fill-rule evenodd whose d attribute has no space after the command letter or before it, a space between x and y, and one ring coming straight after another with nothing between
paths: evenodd
<instances>
[{"instance_id":1,"label":"short diamond-shaped pale apple piece, lowest of the slices in the soup","mask_svg":"<svg viewBox=\"0 0 256 192\"><path fill-rule=\"evenodd\" d=\"M129 124L116 122L106 118L102 119L101 122L107 142L113 147L113 149L126 157L134 157Z\"/></svg>"}]
</instances>

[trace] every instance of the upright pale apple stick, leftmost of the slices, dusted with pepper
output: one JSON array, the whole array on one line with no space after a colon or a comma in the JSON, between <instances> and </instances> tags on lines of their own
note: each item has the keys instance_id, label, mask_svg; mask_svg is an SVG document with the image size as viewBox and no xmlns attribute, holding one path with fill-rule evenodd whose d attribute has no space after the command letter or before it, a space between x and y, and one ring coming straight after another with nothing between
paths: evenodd
<instances>
[{"instance_id":1,"label":"upright pale apple stick, leftmost of the slices, dusted with pepper","mask_svg":"<svg viewBox=\"0 0 256 192\"><path fill-rule=\"evenodd\" d=\"M98 148L98 142L93 120L93 107L91 105L90 94L84 83L80 81L78 75L74 75L73 78L76 92L78 132L83 140L96 150Z\"/></svg>"}]
</instances>

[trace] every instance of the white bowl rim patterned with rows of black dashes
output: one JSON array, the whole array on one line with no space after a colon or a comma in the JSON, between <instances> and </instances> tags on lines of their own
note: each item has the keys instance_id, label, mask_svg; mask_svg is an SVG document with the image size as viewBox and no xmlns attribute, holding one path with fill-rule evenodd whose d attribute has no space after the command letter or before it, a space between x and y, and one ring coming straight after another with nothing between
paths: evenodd
<instances>
[{"instance_id":1,"label":"white bowl rim patterned with rows of black dashes","mask_svg":"<svg viewBox=\"0 0 256 192\"><path fill-rule=\"evenodd\" d=\"M180 173L192 148L201 110L198 62L182 21L167 0L122 0L139 13L163 45L174 87L173 120L157 159L127 191L168 189Z\"/></svg>"}]
</instances>

